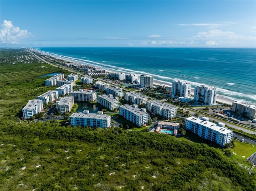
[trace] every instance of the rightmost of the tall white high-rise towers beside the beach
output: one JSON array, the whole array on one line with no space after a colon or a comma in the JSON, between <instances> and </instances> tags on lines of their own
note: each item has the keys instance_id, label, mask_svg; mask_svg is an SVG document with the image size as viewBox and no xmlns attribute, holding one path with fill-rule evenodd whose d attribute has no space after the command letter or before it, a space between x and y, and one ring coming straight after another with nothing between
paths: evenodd
<instances>
[{"instance_id":1,"label":"rightmost of the tall white high-rise towers beside the beach","mask_svg":"<svg viewBox=\"0 0 256 191\"><path fill-rule=\"evenodd\" d=\"M217 89L206 85L196 86L194 91L194 100L206 105L216 104Z\"/></svg>"}]
</instances>

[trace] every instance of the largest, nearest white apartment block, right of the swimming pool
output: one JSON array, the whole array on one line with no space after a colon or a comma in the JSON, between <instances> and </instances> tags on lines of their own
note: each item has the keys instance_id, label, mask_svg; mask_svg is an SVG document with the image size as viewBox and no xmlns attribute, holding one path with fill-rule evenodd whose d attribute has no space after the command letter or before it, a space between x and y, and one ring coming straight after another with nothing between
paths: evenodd
<instances>
[{"instance_id":1,"label":"largest, nearest white apartment block, right of the swimming pool","mask_svg":"<svg viewBox=\"0 0 256 191\"><path fill-rule=\"evenodd\" d=\"M208 117L186 118L185 129L222 147L230 143L233 137L233 131L226 128L224 123L215 124L210 122Z\"/></svg>"}]
</instances>

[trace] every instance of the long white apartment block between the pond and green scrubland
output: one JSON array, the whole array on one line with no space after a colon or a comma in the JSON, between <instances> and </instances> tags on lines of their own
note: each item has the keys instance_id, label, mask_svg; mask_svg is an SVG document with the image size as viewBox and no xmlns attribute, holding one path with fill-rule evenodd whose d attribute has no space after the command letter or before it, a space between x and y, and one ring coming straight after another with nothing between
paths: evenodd
<instances>
[{"instance_id":1,"label":"long white apartment block between the pond and green scrubland","mask_svg":"<svg viewBox=\"0 0 256 191\"><path fill-rule=\"evenodd\" d=\"M88 110L83 113L73 113L69 117L70 125L94 128L109 128L111 126L111 116L106 114L92 114Z\"/></svg>"}]
</instances>

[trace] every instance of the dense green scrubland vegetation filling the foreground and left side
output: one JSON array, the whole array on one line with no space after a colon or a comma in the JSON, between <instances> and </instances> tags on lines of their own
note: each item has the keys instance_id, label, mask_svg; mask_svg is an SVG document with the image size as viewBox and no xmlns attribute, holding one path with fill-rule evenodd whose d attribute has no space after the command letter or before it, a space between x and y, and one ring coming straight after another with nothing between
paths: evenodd
<instances>
[{"instance_id":1,"label":"dense green scrubland vegetation filling the foreground and left side","mask_svg":"<svg viewBox=\"0 0 256 191\"><path fill-rule=\"evenodd\" d=\"M38 76L64 71L43 63L2 63L3 55L1 50L1 191L256 190L254 173L206 144L118 127L19 120L29 99L51 89L43 87L47 77Z\"/></svg>"}]
</instances>

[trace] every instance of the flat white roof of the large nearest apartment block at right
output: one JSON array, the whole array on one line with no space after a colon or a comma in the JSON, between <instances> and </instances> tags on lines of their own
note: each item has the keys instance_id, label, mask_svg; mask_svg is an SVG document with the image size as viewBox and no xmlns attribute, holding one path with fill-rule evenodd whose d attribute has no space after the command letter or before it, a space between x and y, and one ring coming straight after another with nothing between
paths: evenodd
<instances>
[{"instance_id":1,"label":"flat white roof of the large nearest apartment block at right","mask_svg":"<svg viewBox=\"0 0 256 191\"><path fill-rule=\"evenodd\" d=\"M228 133L232 132L232 130L230 130L228 128L218 126L216 123L213 123L213 122L210 122L210 121L207 121L207 120L202 120L201 118L196 118L194 116L186 118L186 120L195 122L197 124L201 124L202 126L206 126L206 127L210 128L214 131L217 131L217 132L221 133L221 134L228 134Z\"/></svg>"}]
</instances>

